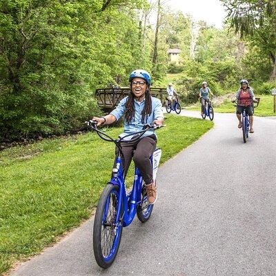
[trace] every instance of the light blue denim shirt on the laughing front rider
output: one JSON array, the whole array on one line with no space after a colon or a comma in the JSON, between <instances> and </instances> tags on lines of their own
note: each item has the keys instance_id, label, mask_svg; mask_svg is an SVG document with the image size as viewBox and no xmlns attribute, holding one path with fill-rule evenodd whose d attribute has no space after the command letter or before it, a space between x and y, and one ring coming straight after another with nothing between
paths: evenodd
<instances>
[{"instance_id":1,"label":"light blue denim shirt on the laughing front rider","mask_svg":"<svg viewBox=\"0 0 276 276\"><path fill-rule=\"evenodd\" d=\"M115 110L112 110L110 112L111 115L113 115L116 120L118 121L126 112L126 101L128 100L128 97L125 97L122 99L117 108ZM157 119L158 117L164 118L163 111L161 109L162 103L159 99L155 97L151 97L151 102L152 102L152 112L150 115L145 116L145 122L144 124L142 123L142 115L141 112L144 109L145 106L145 99L141 102L137 101L136 99L134 100L134 107L135 107L135 117L130 121L128 124L126 121L124 121L124 132L119 135L120 137L124 137L130 133L135 135L138 131L142 130L145 124L152 124L152 122ZM157 136L154 132L154 130L148 130L144 133L142 137L146 137L149 135L154 134ZM126 137L126 140L129 140L132 138L132 135L129 137Z\"/></svg>"}]
</instances>

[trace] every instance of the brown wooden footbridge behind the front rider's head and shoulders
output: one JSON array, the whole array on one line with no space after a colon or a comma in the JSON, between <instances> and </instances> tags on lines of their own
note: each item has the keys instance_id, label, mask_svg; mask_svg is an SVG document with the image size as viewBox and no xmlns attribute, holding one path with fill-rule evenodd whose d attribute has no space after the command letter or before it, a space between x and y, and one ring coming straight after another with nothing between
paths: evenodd
<instances>
[{"instance_id":1,"label":"brown wooden footbridge behind the front rider's head and shoulders","mask_svg":"<svg viewBox=\"0 0 276 276\"><path fill-rule=\"evenodd\" d=\"M128 96L130 88L101 88L96 89L96 99L98 105L103 109L114 109L119 101ZM161 100L162 105L165 105L166 100L166 88L150 88L150 94L153 97L157 97Z\"/></svg>"}]
</instances>

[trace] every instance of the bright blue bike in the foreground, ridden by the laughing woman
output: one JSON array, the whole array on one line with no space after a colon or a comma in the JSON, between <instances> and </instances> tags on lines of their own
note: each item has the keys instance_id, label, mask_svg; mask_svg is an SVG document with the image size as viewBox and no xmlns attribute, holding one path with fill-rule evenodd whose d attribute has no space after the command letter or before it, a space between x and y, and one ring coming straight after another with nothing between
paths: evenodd
<instances>
[{"instance_id":1,"label":"bright blue bike in the foreground, ridden by the laughing woman","mask_svg":"<svg viewBox=\"0 0 276 276\"><path fill-rule=\"evenodd\" d=\"M132 190L129 193L126 190L124 155L121 151L121 144L138 141L144 132L155 130L160 126L147 125L144 130L137 132L137 137L125 140L130 135L112 139L112 137L97 129L97 122L88 121L86 124L92 130L95 130L101 139L115 143L118 149L115 166L112 169L112 178L101 193L97 204L93 228L93 249L96 262L101 268L108 268L117 255L123 227L130 225L136 214L141 222L147 221L153 208L153 204L148 204L146 185L138 168L135 168ZM160 158L161 150L156 148L150 158L153 179L156 179Z\"/></svg>"}]
</instances>

